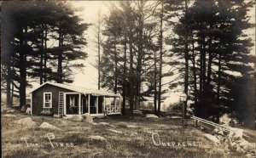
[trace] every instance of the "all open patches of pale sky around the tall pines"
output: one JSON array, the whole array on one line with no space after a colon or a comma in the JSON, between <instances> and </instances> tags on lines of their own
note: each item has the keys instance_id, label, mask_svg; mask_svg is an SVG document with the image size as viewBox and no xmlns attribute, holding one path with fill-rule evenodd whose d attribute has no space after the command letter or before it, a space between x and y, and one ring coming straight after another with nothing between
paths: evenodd
<instances>
[{"instance_id":1,"label":"all open patches of pale sky around the tall pines","mask_svg":"<svg viewBox=\"0 0 256 158\"><path fill-rule=\"evenodd\" d=\"M98 13L100 10L101 16L108 15L108 6L111 5L111 1L72 1L74 7L82 8L77 14L84 20L83 22L96 24L98 21ZM252 16L251 22L255 24L255 8L249 13ZM254 40L254 47L252 49L252 54L255 55L255 28L247 31L247 34L250 34ZM88 88L97 88L97 69L93 66L96 65L97 59L97 48L95 37L95 25L91 25L89 29L85 32L87 38L87 46L84 48L84 51L88 54L88 58L84 60L84 71L81 73L77 71L73 76L74 82L72 85ZM179 99L181 93L167 93L166 95L169 98L166 99L165 103L174 103Z\"/></svg>"}]
</instances>

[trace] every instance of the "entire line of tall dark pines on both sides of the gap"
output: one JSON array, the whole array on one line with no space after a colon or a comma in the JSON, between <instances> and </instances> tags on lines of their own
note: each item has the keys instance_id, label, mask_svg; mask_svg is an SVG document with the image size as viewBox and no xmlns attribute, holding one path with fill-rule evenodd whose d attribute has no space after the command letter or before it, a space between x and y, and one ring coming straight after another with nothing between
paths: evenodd
<instances>
[{"instance_id":1,"label":"entire line of tall dark pines on both sides of the gap","mask_svg":"<svg viewBox=\"0 0 256 158\"><path fill-rule=\"evenodd\" d=\"M182 91L195 116L254 116L255 58L245 33L250 0L120 1L97 25L98 88L123 96L129 111L153 99L161 115L166 93ZM73 82L86 59L83 23L68 2L3 2L1 88L26 104L30 82ZM103 26L101 26L103 24ZM104 37L104 40L101 40ZM101 46L101 47L100 47ZM102 48L102 51L101 51ZM76 61L76 62L74 62ZM29 80L28 80L29 78ZM30 81L30 82L28 82ZM100 84L101 82L101 84Z\"/></svg>"}]
</instances>

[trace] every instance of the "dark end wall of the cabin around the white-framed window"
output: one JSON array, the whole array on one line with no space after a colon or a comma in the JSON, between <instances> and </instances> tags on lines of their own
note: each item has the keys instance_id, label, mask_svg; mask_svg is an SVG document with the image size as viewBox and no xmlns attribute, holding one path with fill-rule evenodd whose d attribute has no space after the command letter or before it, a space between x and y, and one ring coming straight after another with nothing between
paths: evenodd
<instances>
[{"instance_id":1,"label":"dark end wall of the cabin around the white-framed window","mask_svg":"<svg viewBox=\"0 0 256 158\"><path fill-rule=\"evenodd\" d=\"M53 85L45 84L32 92L32 115L39 115L44 107L44 93L52 93L52 108L53 114L58 113L59 92L73 92L62 87L55 87Z\"/></svg>"}]
</instances>

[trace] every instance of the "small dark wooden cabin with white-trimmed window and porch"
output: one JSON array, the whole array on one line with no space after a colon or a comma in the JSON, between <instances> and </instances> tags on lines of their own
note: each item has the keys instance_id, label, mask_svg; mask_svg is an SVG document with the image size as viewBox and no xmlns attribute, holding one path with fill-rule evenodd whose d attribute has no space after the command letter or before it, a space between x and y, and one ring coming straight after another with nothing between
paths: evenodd
<instances>
[{"instance_id":1,"label":"small dark wooden cabin with white-trimmed window and porch","mask_svg":"<svg viewBox=\"0 0 256 158\"><path fill-rule=\"evenodd\" d=\"M121 96L102 90L45 82L31 92L31 115L50 111L57 116L121 114Z\"/></svg>"}]
</instances>

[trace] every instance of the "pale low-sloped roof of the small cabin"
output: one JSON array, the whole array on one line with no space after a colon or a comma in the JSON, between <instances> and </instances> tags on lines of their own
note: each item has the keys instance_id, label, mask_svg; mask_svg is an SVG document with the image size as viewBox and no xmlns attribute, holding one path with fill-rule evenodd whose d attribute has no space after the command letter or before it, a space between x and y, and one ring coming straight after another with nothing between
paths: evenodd
<instances>
[{"instance_id":1,"label":"pale low-sloped roof of the small cabin","mask_svg":"<svg viewBox=\"0 0 256 158\"><path fill-rule=\"evenodd\" d=\"M85 88L85 87L76 87L76 86L71 86L67 84L62 84L62 83L53 83L53 82L45 82L44 84L40 85L39 87L36 87L32 89L31 93L36 91L38 88L43 87L44 85L49 84L55 87L62 87L77 93L86 93L86 94L93 94L93 95L102 95L102 96L111 96L111 97L121 97L119 94L114 94L114 93L109 93L103 90L97 90L97 89L92 89L92 88Z\"/></svg>"}]
</instances>

